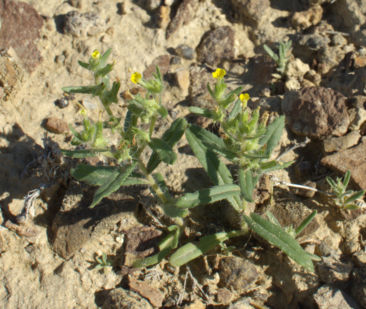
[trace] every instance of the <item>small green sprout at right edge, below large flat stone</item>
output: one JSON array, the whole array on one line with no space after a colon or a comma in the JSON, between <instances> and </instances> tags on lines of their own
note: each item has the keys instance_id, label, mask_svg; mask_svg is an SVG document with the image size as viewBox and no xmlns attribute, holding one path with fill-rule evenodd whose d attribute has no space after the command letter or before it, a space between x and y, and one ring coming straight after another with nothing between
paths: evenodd
<instances>
[{"instance_id":1,"label":"small green sprout at right edge, below large flat stone","mask_svg":"<svg viewBox=\"0 0 366 309\"><path fill-rule=\"evenodd\" d=\"M350 178L351 178L350 170L348 170L344 174L343 182L342 178L337 177L337 183L335 183L332 178L326 176L326 181L328 181L329 185L332 187L332 190L336 196L334 202L340 209L348 209L348 210L359 209L360 206L352 202L360 200L366 191L366 190L360 190L357 192L354 192L352 190L346 191Z\"/></svg>"}]
</instances>

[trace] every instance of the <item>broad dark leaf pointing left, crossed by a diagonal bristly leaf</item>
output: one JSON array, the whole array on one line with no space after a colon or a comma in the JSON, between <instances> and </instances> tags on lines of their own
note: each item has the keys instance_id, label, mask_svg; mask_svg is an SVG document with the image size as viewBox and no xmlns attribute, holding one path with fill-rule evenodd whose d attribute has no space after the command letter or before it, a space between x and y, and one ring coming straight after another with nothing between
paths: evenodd
<instances>
[{"instance_id":1,"label":"broad dark leaf pointing left, crossed by a diagonal bristly leaf","mask_svg":"<svg viewBox=\"0 0 366 309\"><path fill-rule=\"evenodd\" d=\"M79 164L76 168L71 169L71 175L75 179L85 181L91 186L103 185L116 170L112 166L94 166L87 164ZM123 186L147 185L149 184L142 174L132 172L123 182Z\"/></svg>"}]
</instances>

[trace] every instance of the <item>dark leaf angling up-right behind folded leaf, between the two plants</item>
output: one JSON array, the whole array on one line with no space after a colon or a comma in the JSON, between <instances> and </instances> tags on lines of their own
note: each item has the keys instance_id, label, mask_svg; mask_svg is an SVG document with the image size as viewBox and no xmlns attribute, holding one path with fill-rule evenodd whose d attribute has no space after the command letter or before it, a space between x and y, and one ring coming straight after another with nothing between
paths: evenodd
<instances>
[{"instance_id":1,"label":"dark leaf angling up-right behind folded leaf, between the two plants","mask_svg":"<svg viewBox=\"0 0 366 309\"><path fill-rule=\"evenodd\" d=\"M187 127L187 120L184 118L175 119L169 129L164 132L161 139L166 142L171 148L182 138ZM147 162L147 169L151 173L160 164L161 160L157 152L153 152Z\"/></svg>"}]
</instances>

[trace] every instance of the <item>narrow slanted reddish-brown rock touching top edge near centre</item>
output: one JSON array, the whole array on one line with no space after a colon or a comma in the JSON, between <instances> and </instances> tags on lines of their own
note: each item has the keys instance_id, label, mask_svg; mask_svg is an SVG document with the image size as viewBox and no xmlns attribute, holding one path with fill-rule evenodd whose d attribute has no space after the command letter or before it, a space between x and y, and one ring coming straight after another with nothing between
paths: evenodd
<instances>
[{"instance_id":1,"label":"narrow slanted reddish-brown rock touching top edge near centre","mask_svg":"<svg viewBox=\"0 0 366 309\"><path fill-rule=\"evenodd\" d=\"M197 6L198 0L183 0L182 3L179 4L175 16L168 25L167 32L165 34L165 38L167 40L179 29L179 27L182 27L185 23L193 19Z\"/></svg>"}]
</instances>

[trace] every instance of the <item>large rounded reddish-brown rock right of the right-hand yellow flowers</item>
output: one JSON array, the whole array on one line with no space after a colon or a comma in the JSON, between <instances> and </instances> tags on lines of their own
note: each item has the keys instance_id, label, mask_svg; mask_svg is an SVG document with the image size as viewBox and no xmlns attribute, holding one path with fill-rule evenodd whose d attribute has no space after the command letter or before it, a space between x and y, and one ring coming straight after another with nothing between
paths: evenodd
<instances>
[{"instance_id":1,"label":"large rounded reddish-brown rock right of the right-hand yellow flowers","mask_svg":"<svg viewBox=\"0 0 366 309\"><path fill-rule=\"evenodd\" d=\"M332 89L306 87L286 92L281 105L292 132L325 139L347 132L350 120L344 100Z\"/></svg>"}]
</instances>

